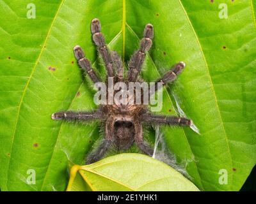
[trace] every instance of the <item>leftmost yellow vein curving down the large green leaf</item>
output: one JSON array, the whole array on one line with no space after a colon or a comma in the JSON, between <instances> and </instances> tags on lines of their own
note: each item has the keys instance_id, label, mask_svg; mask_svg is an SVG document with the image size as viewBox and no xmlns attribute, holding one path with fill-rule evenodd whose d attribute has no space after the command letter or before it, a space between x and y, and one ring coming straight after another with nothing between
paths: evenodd
<instances>
[{"instance_id":1,"label":"leftmost yellow vein curving down the large green leaf","mask_svg":"<svg viewBox=\"0 0 256 204\"><path fill-rule=\"evenodd\" d=\"M54 18L52 19L51 25L49 27L49 31L47 32L47 35L45 37L45 41L44 41L44 43L42 45L42 49L41 49L40 54L38 55L38 57L37 57L37 59L35 61L35 66L33 67L32 71L31 71L31 74L29 75L28 82L26 83L26 85L24 87L24 91L23 91L23 94L22 94L21 99L20 99L20 103L19 103L19 106L18 106L19 108L18 108L18 112L17 112L17 118L16 118L14 130L13 130L13 135L12 135L10 157L9 157L9 161L8 161L8 164L7 164L7 171L6 171L6 189L7 190L8 190L7 181L8 181L9 171L10 171L10 161L11 161L11 158L12 158L12 151L13 151L13 140L14 140L15 135L16 135L17 124L18 124L19 118L20 118L19 117L20 116L20 108L21 108L24 96L25 96L25 94L26 94L26 92L28 90L29 84L31 82L31 78L32 78L33 74L35 73L36 67L38 66L38 62L40 61L40 59L42 57L42 54L43 54L43 52L45 50L45 45L46 45L47 41L49 40L49 36L50 36L51 31L52 31L52 27L54 25L54 22L56 21L56 18L58 17L58 13L60 12L61 7L62 7L64 1L65 0L61 0L60 6L59 6L58 10L56 11L56 14L54 15Z\"/></svg>"}]
</instances>

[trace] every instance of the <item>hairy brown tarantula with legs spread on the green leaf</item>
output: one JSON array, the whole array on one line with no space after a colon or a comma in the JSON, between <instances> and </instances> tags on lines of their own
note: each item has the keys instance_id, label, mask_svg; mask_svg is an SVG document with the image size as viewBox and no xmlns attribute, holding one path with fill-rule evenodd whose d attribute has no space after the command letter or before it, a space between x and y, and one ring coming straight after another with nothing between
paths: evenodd
<instances>
[{"instance_id":1,"label":"hairy brown tarantula with legs spread on the green leaf","mask_svg":"<svg viewBox=\"0 0 256 204\"><path fill-rule=\"evenodd\" d=\"M118 56L117 52L109 52L105 44L104 36L100 30L99 19L93 19L91 24L92 39L99 55L104 61L108 74L107 78L112 78L114 83L124 82L125 84L141 81L138 77L143 66L143 61L145 60L146 52L148 52L152 46L154 36L153 25L147 24L145 26L143 38L140 41L140 48L134 52L129 61L127 77L124 76L124 66L120 56ZM90 61L86 59L82 48L78 45L74 47L74 55L79 66L84 70L84 73L88 74L92 82L100 82L100 78L95 71L93 71ZM157 80L157 82L161 82L163 85L166 85L168 82L173 82L184 67L184 62L179 62L172 70L168 71L162 78ZM155 86L154 89L157 91L157 86ZM110 92L107 93L107 96L108 94L110 94ZM144 105L143 103L141 105L116 103L110 105L107 103L106 105L99 105L99 108L93 112L53 113L52 119L102 121L105 131L104 139L100 142L99 147L88 155L86 159L87 164L94 163L101 159L112 145L118 150L125 150L129 149L134 142L143 153L152 156L154 150L143 140L143 124L166 124L169 126L192 125L192 120L184 117L154 115L148 110L148 105Z\"/></svg>"}]
</instances>

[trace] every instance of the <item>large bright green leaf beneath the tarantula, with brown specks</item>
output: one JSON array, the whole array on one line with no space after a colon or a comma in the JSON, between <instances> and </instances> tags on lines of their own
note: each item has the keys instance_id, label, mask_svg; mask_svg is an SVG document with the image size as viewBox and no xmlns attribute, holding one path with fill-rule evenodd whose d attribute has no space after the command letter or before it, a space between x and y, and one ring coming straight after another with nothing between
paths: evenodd
<instances>
[{"instance_id":1,"label":"large bright green leaf beneath the tarantula, with brown specks","mask_svg":"<svg viewBox=\"0 0 256 204\"><path fill-rule=\"evenodd\" d=\"M78 44L96 61L90 36L95 17L109 47L125 61L138 47L145 24L154 25L154 47L143 71L148 81L175 62L186 62L179 80L164 90L161 112L179 115L180 107L201 135L163 128L166 144L187 164L198 188L241 188L256 161L253 1L37 0L35 19L26 18L28 3L0 0L1 190L65 190L68 160L83 163L97 139L97 124L51 120L59 110L95 108L90 83L72 53ZM227 4L227 19L219 17L220 3ZM36 172L36 184L26 183L29 169ZM228 172L223 185L222 169Z\"/></svg>"}]
</instances>

